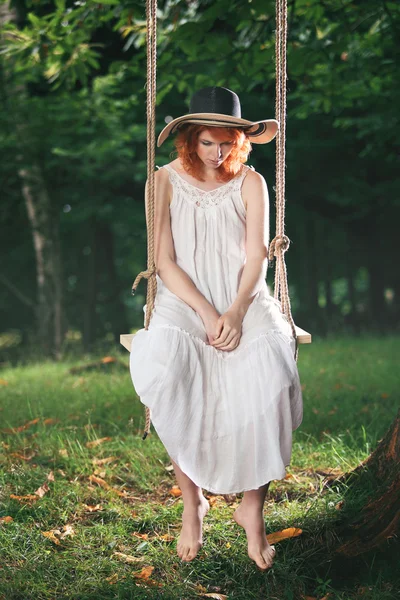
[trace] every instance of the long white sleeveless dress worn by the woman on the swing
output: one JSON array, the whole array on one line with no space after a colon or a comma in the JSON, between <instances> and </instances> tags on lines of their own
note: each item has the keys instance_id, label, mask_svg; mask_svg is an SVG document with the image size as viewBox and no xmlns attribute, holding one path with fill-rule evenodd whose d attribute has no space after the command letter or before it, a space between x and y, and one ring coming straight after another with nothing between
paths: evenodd
<instances>
[{"instance_id":1,"label":"long white sleeveless dress worn by the woman on the swing","mask_svg":"<svg viewBox=\"0 0 400 600\"><path fill-rule=\"evenodd\" d=\"M222 315L236 298L246 262L241 186L252 167L243 165L212 191L188 183L170 165L162 168L173 187L176 262ZM215 494L284 478L303 400L295 340L280 303L264 281L243 319L239 345L218 350L198 313L156 277L153 314L148 330L133 337L130 373L170 458Z\"/></svg>"}]
</instances>

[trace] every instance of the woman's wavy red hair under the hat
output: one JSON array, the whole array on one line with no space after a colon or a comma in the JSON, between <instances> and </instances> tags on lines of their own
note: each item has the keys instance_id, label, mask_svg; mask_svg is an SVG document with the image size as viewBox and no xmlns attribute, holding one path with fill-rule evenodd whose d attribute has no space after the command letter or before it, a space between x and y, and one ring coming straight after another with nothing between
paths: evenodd
<instances>
[{"instance_id":1,"label":"woman's wavy red hair under the hat","mask_svg":"<svg viewBox=\"0 0 400 600\"><path fill-rule=\"evenodd\" d=\"M237 175L251 152L249 137L238 127L208 127L188 123L178 130L175 137L174 144L178 156L185 171L199 181L205 181L201 177L203 161L199 158L196 149L200 133L208 129L218 140L233 142L230 154L217 169L217 181L229 181Z\"/></svg>"}]
</instances>

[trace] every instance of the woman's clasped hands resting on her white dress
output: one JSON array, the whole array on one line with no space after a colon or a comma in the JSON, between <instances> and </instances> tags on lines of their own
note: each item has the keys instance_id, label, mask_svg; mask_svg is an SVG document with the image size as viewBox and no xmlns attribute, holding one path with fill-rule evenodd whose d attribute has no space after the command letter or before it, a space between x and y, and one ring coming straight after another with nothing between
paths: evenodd
<instances>
[{"instance_id":1,"label":"woman's clasped hands resting on her white dress","mask_svg":"<svg viewBox=\"0 0 400 600\"><path fill-rule=\"evenodd\" d=\"M232 351L242 337L244 311L231 307L220 315L214 307L202 317L208 342L217 350Z\"/></svg>"}]
</instances>

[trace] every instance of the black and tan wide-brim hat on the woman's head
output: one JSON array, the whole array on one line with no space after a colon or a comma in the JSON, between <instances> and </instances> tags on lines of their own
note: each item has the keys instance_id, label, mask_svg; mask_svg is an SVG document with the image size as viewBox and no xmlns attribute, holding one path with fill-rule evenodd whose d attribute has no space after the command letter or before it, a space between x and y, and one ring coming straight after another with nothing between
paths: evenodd
<instances>
[{"instance_id":1,"label":"black and tan wide-brim hat on the woman's head","mask_svg":"<svg viewBox=\"0 0 400 600\"><path fill-rule=\"evenodd\" d=\"M267 144L279 131L276 119L248 121L242 119L239 96L224 87L201 88L190 99L189 113L168 123L157 139L157 146L186 123L210 127L240 127L254 144Z\"/></svg>"}]
</instances>

